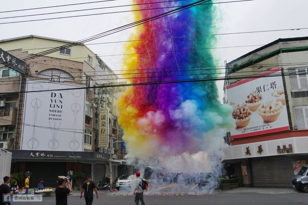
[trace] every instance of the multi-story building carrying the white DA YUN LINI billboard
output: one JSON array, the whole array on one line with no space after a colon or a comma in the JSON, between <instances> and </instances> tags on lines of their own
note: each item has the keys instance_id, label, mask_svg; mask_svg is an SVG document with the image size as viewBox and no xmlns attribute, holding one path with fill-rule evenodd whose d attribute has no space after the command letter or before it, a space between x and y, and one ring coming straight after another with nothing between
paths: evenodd
<instances>
[{"instance_id":1,"label":"multi-story building carrying the white DA YUN LINI billboard","mask_svg":"<svg viewBox=\"0 0 308 205\"><path fill-rule=\"evenodd\" d=\"M12 173L32 172L33 186L40 180L54 186L68 171L105 179L110 156L116 165L123 162L121 146L100 146L103 138L120 141L121 127L112 110L110 135L100 135L106 93L94 88L116 83L118 76L85 45L42 53L70 43L33 35L0 41L0 147L13 153ZM115 108L116 100L108 102ZM117 176L117 167L113 173Z\"/></svg>"}]
</instances>

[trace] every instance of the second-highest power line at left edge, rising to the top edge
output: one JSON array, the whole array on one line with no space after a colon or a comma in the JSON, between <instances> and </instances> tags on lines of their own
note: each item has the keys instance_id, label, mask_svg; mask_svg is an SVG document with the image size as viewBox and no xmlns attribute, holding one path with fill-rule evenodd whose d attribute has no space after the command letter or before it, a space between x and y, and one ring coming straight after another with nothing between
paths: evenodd
<instances>
[{"instance_id":1,"label":"second-highest power line at left edge, rising to the top edge","mask_svg":"<svg viewBox=\"0 0 308 205\"><path fill-rule=\"evenodd\" d=\"M99 8L91 8L91 9L57 11L57 12L50 12L50 13L39 13L39 14L29 14L29 15L21 15L21 16L0 17L0 19L50 15L50 14L69 13L69 12L77 12L77 11L89 11L89 10L98 10L98 9L111 9L111 8L119 8L119 7L140 6L140 5L150 5L150 4L160 4L160 3L172 3L172 2L182 2L182 1L187 1L187 0L170 0L170 1L163 1L163 2L150 2L150 3L141 3L141 4L129 4L129 5L120 5L120 6L99 7Z\"/></svg>"}]
</instances>

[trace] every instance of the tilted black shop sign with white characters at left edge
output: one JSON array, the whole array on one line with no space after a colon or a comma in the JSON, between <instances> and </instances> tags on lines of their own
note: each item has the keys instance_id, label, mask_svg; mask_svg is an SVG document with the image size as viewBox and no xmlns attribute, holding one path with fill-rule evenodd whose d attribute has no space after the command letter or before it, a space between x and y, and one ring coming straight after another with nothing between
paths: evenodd
<instances>
[{"instance_id":1,"label":"tilted black shop sign with white characters at left edge","mask_svg":"<svg viewBox=\"0 0 308 205\"><path fill-rule=\"evenodd\" d=\"M0 49L0 64L3 64L18 73L26 73L26 63L2 49Z\"/></svg>"}]
</instances>

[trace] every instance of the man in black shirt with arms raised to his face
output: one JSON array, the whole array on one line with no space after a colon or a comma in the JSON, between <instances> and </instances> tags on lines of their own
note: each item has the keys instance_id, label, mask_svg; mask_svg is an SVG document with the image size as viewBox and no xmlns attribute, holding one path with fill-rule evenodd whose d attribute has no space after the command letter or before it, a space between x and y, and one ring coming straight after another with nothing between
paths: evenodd
<instances>
[{"instance_id":1,"label":"man in black shirt with arms raised to his face","mask_svg":"<svg viewBox=\"0 0 308 205\"><path fill-rule=\"evenodd\" d=\"M67 205L67 195L72 192L70 182L67 179L58 179L59 187L55 189L55 205ZM68 186L66 188L65 186Z\"/></svg>"}]
</instances>

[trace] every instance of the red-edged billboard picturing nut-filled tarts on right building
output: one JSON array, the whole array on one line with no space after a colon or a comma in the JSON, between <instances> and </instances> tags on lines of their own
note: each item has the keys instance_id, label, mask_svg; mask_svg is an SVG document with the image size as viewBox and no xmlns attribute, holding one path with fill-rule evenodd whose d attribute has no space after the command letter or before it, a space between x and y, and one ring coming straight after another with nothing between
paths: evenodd
<instances>
[{"instance_id":1,"label":"red-edged billboard picturing nut-filled tarts on right building","mask_svg":"<svg viewBox=\"0 0 308 205\"><path fill-rule=\"evenodd\" d=\"M227 98L232 139L290 130L280 67L227 86Z\"/></svg>"}]
</instances>

